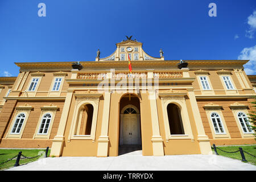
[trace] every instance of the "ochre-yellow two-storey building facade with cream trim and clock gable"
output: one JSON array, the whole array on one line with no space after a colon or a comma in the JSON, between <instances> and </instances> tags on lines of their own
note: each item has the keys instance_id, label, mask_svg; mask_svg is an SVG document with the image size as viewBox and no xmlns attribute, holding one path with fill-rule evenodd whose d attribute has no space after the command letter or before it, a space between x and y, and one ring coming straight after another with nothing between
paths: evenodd
<instances>
[{"instance_id":1,"label":"ochre-yellow two-storey building facade with cream trim and clock gable","mask_svg":"<svg viewBox=\"0 0 256 182\"><path fill-rule=\"evenodd\" d=\"M18 77L7 84L0 78L0 147L104 157L122 146L162 156L255 144L247 118L254 83L243 71L249 60L185 60L178 68L180 61L164 60L162 50L152 57L137 40L116 47L78 69L72 62L15 63Z\"/></svg>"}]
</instances>

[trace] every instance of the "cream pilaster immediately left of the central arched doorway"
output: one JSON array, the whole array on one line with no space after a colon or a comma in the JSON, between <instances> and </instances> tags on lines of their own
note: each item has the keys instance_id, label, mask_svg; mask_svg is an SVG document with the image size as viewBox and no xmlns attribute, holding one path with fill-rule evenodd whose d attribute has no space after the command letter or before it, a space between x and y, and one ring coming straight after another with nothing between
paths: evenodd
<instances>
[{"instance_id":1,"label":"cream pilaster immediately left of the central arched doorway","mask_svg":"<svg viewBox=\"0 0 256 182\"><path fill-rule=\"evenodd\" d=\"M111 91L105 91L103 116L102 116L102 123L101 123L101 135L98 139L98 151L97 151L98 157L108 156L110 97L111 97Z\"/></svg>"}]
</instances>

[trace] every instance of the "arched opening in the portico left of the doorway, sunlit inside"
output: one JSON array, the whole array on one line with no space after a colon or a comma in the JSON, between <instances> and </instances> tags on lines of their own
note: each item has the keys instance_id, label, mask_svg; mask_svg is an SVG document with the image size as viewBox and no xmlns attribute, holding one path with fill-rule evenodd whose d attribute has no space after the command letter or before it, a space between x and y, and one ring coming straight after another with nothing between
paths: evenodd
<instances>
[{"instance_id":1,"label":"arched opening in the portico left of the doorway, sunlit inside","mask_svg":"<svg viewBox=\"0 0 256 182\"><path fill-rule=\"evenodd\" d=\"M93 105L86 104L80 110L79 128L77 135L90 135L92 130Z\"/></svg>"}]
</instances>

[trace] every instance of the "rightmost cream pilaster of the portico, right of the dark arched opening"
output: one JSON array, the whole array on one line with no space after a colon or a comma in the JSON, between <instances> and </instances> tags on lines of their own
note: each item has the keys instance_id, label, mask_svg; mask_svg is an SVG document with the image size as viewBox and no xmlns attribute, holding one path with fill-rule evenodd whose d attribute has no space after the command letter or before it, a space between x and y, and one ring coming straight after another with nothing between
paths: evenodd
<instances>
[{"instance_id":1,"label":"rightmost cream pilaster of the portico, right of the dark arched opening","mask_svg":"<svg viewBox=\"0 0 256 182\"><path fill-rule=\"evenodd\" d=\"M191 107L193 108L193 117L196 122L197 129L197 141L199 142L201 154L212 154L212 148L210 147L210 139L205 135L203 121L201 119L199 107L196 102L196 97L193 89L188 90L188 97L191 102Z\"/></svg>"}]
</instances>

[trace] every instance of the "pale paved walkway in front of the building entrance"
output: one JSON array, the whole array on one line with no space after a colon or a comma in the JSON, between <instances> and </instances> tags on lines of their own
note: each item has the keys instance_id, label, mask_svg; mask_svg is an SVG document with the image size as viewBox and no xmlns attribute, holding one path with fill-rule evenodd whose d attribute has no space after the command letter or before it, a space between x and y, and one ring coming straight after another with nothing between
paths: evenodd
<instances>
[{"instance_id":1,"label":"pale paved walkway in front of the building entrance","mask_svg":"<svg viewBox=\"0 0 256 182\"><path fill-rule=\"evenodd\" d=\"M133 151L116 157L60 157L43 158L13 167L12 171L256 171L256 166L220 155L142 156Z\"/></svg>"}]
</instances>

